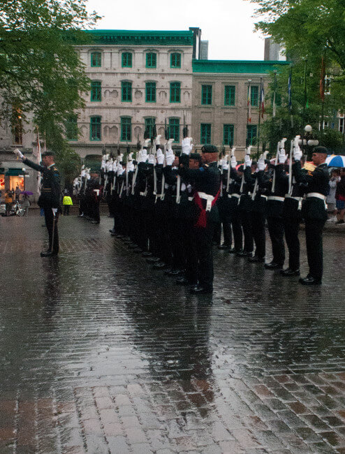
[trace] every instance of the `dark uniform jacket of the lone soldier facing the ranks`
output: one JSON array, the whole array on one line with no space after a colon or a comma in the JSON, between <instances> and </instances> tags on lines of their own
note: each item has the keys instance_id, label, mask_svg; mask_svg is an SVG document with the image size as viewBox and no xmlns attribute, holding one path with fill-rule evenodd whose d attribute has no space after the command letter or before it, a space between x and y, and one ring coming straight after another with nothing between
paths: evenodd
<instances>
[{"instance_id":1,"label":"dark uniform jacket of the lone soldier facing the ranks","mask_svg":"<svg viewBox=\"0 0 345 454\"><path fill-rule=\"evenodd\" d=\"M60 203L60 175L57 166L40 166L29 159L24 159L24 164L41 172L42 188L41 196L38 198L38 206L41 208L59 208Z\"/></svg>"}]
</instances>

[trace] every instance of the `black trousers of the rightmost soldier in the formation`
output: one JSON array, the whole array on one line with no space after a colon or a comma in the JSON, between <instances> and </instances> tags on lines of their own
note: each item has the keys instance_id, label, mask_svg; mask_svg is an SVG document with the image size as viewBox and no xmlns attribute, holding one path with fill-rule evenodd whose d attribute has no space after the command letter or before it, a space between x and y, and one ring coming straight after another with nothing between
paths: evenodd
<instances>
[{"instance_id":1,"label":"black trousers of the rightmost soldier in the formation","mask_svg":"<svg viewBox=\"0 0 345 454\"><path fill-rule=\"evenodd\" d=\"M309 276L314 279L321 279L323 274L322 230L324 225L325 221L319 219L305 219Z\"/></svg>"}]
</instances>

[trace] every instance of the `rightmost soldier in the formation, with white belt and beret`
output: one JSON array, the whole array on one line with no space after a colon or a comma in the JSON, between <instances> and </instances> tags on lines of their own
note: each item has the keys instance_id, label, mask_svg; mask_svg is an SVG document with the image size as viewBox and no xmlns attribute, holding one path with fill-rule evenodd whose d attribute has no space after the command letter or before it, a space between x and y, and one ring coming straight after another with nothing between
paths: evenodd
<instances>
[{"instance_id":1,"label":"rightmost soldier in the formation, with white belt and beret","mask_svg":"<svg viewBox=\"0 0 345 454\"><path fill-rule=\"evenodd\" d=\"M315 147L312 160L316 169L311 173L303 173L300 159L302 152L294 153L293 175L296 182L306 184L307 198L302 204L302 217L305 221L305 238L307 242L307 257L309 273L300 278L304 285L321 284L323 274L322 230L327 219L325 199L329 192L330 175L325 160L328 150L325 147Z\"/></svg>"}]
</instances>

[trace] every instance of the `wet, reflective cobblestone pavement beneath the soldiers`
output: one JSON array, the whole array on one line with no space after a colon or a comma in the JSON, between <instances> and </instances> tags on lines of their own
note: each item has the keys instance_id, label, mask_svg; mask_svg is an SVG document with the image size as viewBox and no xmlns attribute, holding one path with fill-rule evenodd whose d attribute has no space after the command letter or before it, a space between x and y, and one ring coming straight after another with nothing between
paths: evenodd
<instances>
[{"instance_id":1,"label":"wet, reflective cobblestone pavement beneath the soldiers","mask_svg":"<svg viewBox=\"0 0 345 454\"><path fill-rule=\"evenodd\" d=\"M0 453L345 453L345 239L323 286L215 251L212 297L108 233L0 219ZM306 274L301 233L302 275Z\"/></svg>"}]
</instances>

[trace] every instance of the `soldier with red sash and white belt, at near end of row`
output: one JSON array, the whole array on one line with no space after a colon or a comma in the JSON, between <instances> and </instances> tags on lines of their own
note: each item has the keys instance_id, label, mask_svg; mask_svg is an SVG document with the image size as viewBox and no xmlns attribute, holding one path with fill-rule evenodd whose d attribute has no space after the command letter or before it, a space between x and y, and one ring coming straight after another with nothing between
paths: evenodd
<instances>
[{"instance_id":1,"label":"soldier with red sash and white belt, at near end of row","mask_svg":"<svg viewBox=\"0 0 345 454\"><path fill-rule=\"evenodd\" d=\"M216 200L219 198L221 184L221 174L217 166L218 149L213 145L205 145L201 151L203 166L199 169L179 169L179 175L193 185L197 208L191 240L192 256L198 270L198 285L191 288L191 293L197 294L213 291L212 240L219 224Z\"/></svg>"}]
</instances>

